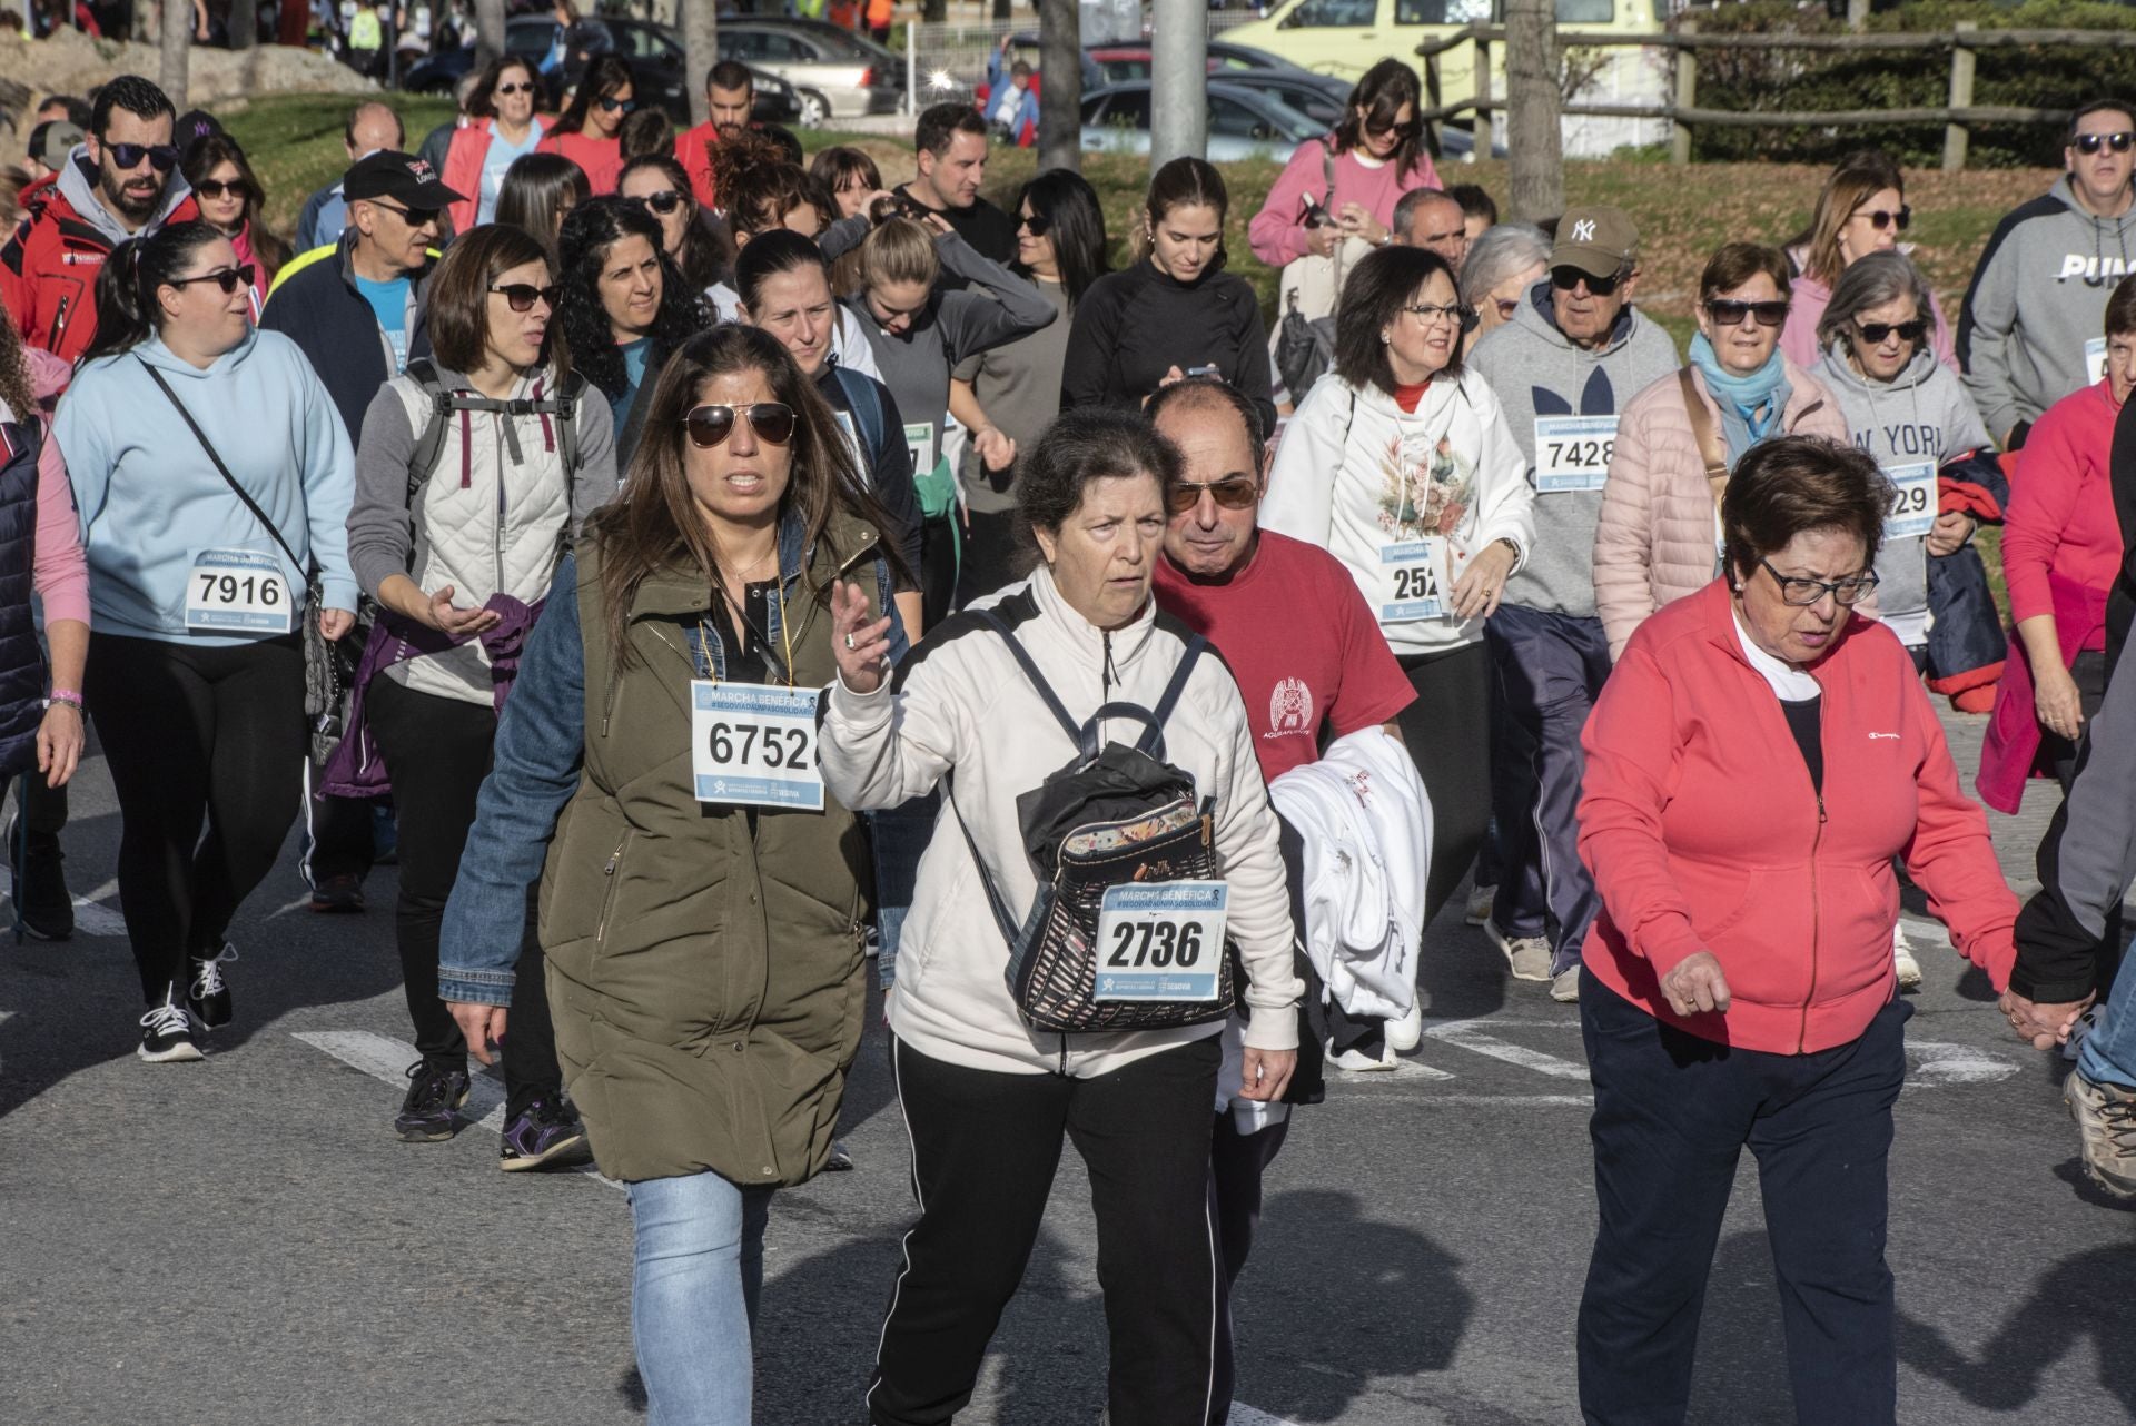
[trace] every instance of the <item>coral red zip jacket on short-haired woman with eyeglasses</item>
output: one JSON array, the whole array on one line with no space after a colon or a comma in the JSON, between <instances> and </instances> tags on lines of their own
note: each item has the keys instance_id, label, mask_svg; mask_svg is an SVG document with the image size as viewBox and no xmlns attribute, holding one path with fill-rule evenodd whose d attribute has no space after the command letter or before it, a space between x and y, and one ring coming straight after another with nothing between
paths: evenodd
<instances>
[{"instance_id":1,"label":"coral red zip jacket on short-haired woman with eyeglasses","mask_svg":"<svg viewBox=\"0 0 2136 1426\"><path fill-rule=\"evenodd\" d=\"M2016 950L1986 813L1959 788L1914 662L1852 615L1811 670L1824 690L1824 794L1728 585L1649 617L1581 734L1581 860L1602 892L1587 971L1677 1029L1773 1055L1860 1037L1897 993L1901 856L1929 909L2001 991ZM1726 1014L1679 1016L1658 978L1711 950Z\"/></svg>"}]
</instances>

